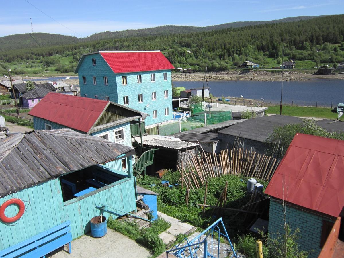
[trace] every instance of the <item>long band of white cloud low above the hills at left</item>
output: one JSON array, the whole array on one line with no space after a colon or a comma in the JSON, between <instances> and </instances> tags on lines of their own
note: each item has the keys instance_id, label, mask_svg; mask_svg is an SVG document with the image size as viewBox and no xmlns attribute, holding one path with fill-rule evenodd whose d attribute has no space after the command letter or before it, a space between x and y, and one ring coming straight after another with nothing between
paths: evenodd
<instances>
[{"instance_id":1,"label":"long band of white cloud low above the hills at left","mask_svg":"<svg viewBox=\"0 0 344 258\"><path fill-rule=\"evenodd\" d=\"M148 24L140 22L121 22L121 21L76 21L76 22L61 22L64 26L69 29L66 29L61 24L56 22L49 23L34 23L33 32L45 32L45 33L54 33L62 35L71 35L80 37L87 37L97 32L102 31L121 31L127 29L143 29L149 27L159 26L160 24ZM73 31L78 34L74 33ZM0 23L0 36L6 36L11 34L21 34L21 33L30 33L31 25L30 23L22 24L1 24Z\"/></svg>"}]
</instances>

